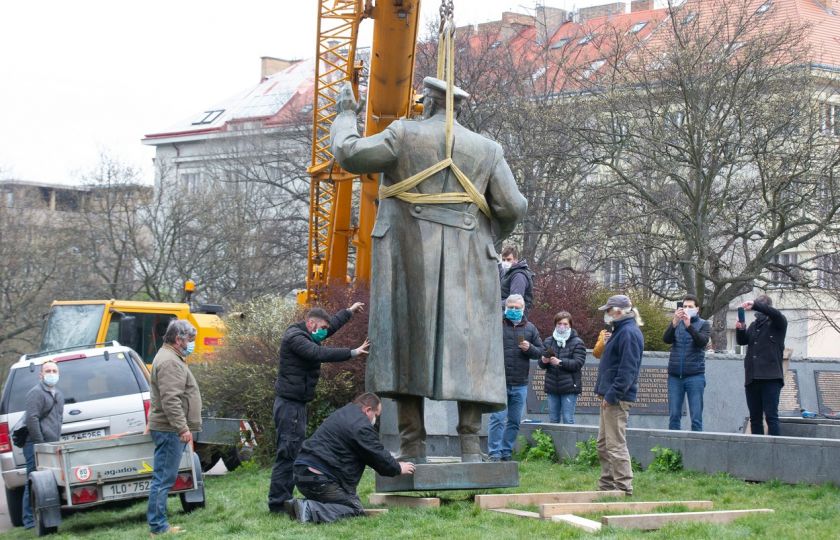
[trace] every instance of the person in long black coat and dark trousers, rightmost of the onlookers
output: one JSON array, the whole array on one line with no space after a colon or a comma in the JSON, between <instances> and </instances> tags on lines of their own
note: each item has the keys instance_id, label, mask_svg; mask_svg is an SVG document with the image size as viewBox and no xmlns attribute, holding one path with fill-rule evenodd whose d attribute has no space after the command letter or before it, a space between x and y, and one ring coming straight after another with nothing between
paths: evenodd
<instances>
[{"instance_id":1,"label":"person in long black coat and dark trousers, rightmost of the onlookers","mask_svg":"<svg viewBox=\"0 0 840 540\"><path fill-rule=\"evenodd\" d=\"M768 435L779 435L779 395L785 385L782 357L785 350L787 319L772 307L766 294L741 304L745 310L755 311L755 321L749 328L735 323L735 340L747 346L744 356L744 391L750 411L750 431L764 435L767 419Z\"/></svg>"}]
</instances>

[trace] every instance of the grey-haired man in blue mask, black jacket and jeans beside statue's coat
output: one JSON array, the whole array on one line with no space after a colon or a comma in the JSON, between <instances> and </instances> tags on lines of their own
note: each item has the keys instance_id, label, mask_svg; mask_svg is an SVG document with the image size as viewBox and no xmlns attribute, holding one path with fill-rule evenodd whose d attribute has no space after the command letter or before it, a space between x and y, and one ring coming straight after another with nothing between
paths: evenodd
<instances>
[{"instance_id":1,"label":"grey-haired man in blue mask, black jacket and jeans beside statue's coat","mask_svg":"<svg viewBox=\"0 0 840 540\"><path fill-rule=\"evenodd\" d=\"M487 452L490 461L494 462L510 461L528 396L531 358L539 358L543 354L537 327L525 318L525 299L521 295L512 294L505 301L502 345L505 351L507 408L490 415Z\"/></svg>"}]
</instances>

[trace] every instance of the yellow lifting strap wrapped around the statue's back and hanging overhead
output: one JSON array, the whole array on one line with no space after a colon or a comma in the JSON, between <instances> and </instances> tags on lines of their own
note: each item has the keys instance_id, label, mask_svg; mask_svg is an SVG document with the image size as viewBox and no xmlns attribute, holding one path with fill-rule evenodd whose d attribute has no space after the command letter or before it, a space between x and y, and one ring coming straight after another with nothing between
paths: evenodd
<instances>
[{"instance_id":1,"label":"yellow lifting strap wrapped around the statue's back and hanging overhead","mask_svg":"<svg viewBox=\"0 0 840 540\"><path fill-rule=\"evenodd\" d=\"M446 80L446 159L432 165L428 169L406 178L394 185L379 189L379 199L396 197L401 201L410 204L451 204L451 203L475 203L484 215L491 217L490 207L487 199L478 192L475 185L467 178L467 175L458 168L452 161L453 126L455 122L455 23L451 16L445 24L441 25L440 38L438 41L438 79ZM408 190L416 187L427 178L440 171L451 168L455 178L463 192L451 193L409 193Z\"/></svg>"}]
</instances>

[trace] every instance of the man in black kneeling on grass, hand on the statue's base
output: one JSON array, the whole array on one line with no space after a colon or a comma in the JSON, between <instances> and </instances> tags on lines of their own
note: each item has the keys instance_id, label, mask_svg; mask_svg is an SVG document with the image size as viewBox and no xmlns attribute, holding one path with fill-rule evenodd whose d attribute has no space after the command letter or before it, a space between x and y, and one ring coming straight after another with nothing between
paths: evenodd
<instances>
[{"instance_id":1,"label":"man in black kneeling on grass, hand on the statue's base","mask_svg":"<svg viewBox=\"0 0 840 540\"><path fill-rule=\"evenodd\" d=\"M382 413L376 394L365 393L332 413L303 443L295 460L295 485L306 499L283 504L301 523L330 523L364 515L356 487L365 465L383 476L413 474L414 464L395 460L373 427Z\"/></svg>"}]
</instances>

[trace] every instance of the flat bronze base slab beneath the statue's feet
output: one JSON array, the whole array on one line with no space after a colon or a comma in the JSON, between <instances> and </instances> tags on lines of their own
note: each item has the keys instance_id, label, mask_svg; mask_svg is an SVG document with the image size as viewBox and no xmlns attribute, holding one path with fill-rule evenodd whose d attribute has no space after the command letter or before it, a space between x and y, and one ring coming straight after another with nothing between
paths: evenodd
<instances>
[{"instance_id":1,"label":"flat bronze base slab beneath the statue's feet","mask_svg":"<svg viewBox=\"0 0 840 540\"><path fill-rule=\"evenodd\" d=\"M517 487L519 467L515 461L499 463L430 463L416 465L414 474L394 477L376 475L376 491L445 491Z\"/></svg>"}]
</instances>

